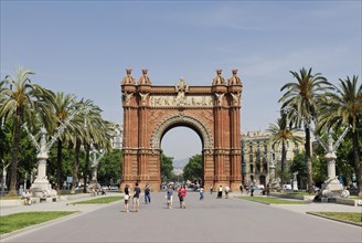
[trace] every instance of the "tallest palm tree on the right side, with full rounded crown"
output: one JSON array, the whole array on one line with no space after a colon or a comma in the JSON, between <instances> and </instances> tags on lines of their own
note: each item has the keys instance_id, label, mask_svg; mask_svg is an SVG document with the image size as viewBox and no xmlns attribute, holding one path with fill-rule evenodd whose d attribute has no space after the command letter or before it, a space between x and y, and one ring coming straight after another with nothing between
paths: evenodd
<instances>
[{"instance_id":1,"label":"tallest palm tree on the right side, with full rounded crown","mask_svg":"<svg viewBox=\"0 0 362 243\"><path fill-rule=\"evenodd\" d=\"M308 191L312 192L312 168L311 168L311 148L310 148L310 125L317 117L317 103L327 89L331 88L330 83L320 73L311 74L311 68L305 67L297 72L290 71L296 82L285 84L280 91L286 91L279 102L283 102L281 109L292 108L296 113L289 113L289 118L297 127L304 122L306 133L306 160L308 168Z\"/></svg>"}]
</instances>

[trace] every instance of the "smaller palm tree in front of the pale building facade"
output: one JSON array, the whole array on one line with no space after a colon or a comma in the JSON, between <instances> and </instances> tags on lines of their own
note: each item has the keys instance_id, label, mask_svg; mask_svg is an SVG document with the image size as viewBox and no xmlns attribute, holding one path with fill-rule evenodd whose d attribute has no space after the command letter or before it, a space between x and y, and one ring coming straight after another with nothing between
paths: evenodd
<instances>
[{"instance_id":1,"label":"smaller palm tree in front of the pale building facade","mask_svg":"<svg viewBox=\"0 0 362 243\"><path fill-rule=\"evenodd\" d=\"M287 117L281 114L281 117L277 119L276 124L270 124L267 131L270 134L269 144L274 146L281 145L281 184L284 184L284 170L287 158L287 144L288 142L301 142L302 138L298 135L300 129L291 128L287 125ZM281 187L283 188L283 187Z\"/></svg>"}]
</instances>

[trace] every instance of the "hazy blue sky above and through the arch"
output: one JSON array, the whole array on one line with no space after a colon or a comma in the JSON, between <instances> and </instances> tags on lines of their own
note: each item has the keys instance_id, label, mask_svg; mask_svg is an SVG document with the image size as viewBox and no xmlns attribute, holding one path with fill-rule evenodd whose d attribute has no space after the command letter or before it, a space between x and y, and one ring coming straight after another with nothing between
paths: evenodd
<instances>
[{"instance_id":1,"label":"hazy blue sky above and through the arch","mask_svg":"<svg viewBox=\"0 0 362 243\"><path fill-rule=\"evenodd\" d=\"M125 68L153 85L211 85L215 70L243 81L242 133L278 117L289 71L312 67L331 83L361 77L361 1L3 1L1 78L18 66L53 91L93 99L123 123ZM175 159L201 151L188 128L162 149Z\"/></svg>"}]
</instances>

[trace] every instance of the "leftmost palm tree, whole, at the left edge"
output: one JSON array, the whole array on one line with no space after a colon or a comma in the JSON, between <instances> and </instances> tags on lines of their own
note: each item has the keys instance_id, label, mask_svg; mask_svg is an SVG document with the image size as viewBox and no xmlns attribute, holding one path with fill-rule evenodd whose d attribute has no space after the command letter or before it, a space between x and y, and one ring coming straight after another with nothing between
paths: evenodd
<instances>
[{"instance_id":1,"label":"leftmost palm tree, whole, at the left edge","mask_svg":"<svg viewBox=\"0 0 362 243\"><path fill-rule=\"evenodd\" d=\"M30 117L34 117L34 113L39 107L44 107L46 101L50 101L52 92L32 84L29 76L33 75L32 71L25 71L19 67L15 71L15 78L11 75L6 76L0 83L0 97L2 105L0 106L0 117L7 118L12 116L13 120L13 145L12 160L10 169L9 194L17 194L17 175L18 175L18 157L20 146L20 129L23 122L31 123ZM6 87L9 85L9 87Z\"/></svg>"}]
</instances>

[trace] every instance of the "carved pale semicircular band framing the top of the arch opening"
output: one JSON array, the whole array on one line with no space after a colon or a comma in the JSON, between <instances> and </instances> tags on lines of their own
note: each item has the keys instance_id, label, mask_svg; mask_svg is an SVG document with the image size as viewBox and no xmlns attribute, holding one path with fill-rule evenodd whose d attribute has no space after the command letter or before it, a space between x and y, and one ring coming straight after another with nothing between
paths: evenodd
<instances>
[{"instance_id":1,"label":"carved pale semicircular band framing the top of the arch opening","mask_svg":"<svg viewBox=\"0 0 362 243\"><path fill-rule=\"evenodd\" d=\"M177 114L169 116L168 118L163 119L155 129L151 136L151 148L152 149L160 149L160 141L169 127L178 125L178 124L187 124L191 127L195 128L200 135L202 136L203 140L203 149L212 149L213 148L213 138L211 131L207 129L205 125L200 123L200 120L191 115L184 114Z\"/></svg>"}]
</instances>

